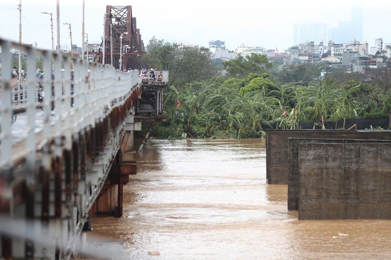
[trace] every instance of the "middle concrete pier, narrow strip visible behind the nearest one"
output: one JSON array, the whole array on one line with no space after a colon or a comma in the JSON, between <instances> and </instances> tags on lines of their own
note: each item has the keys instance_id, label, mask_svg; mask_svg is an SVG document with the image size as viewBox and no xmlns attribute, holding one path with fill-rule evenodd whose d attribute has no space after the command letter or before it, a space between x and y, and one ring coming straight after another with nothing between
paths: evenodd
<instances>
[{"instance_id":1,"label":"middle concrete pier, narrow strip visible behind the nearest one","mask_svg":"<svg viewBox=\"0 0 391 260\"><path fill-rule=\"evenodd\" d=\"M288 173L288 210L299 209L300 176L299 176L299 144L300 143L391 143L389 140L349 140L349 139L314 139L288 138L289 173Z\"/></svg>"}]
</instances>

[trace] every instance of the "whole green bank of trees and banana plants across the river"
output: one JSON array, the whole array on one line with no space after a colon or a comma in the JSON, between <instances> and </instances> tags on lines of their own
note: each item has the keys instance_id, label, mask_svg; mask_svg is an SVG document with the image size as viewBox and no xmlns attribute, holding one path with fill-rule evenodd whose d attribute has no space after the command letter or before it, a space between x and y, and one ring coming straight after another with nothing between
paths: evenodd
<instances>
[{"instance_id":1,"label":"whole green bank of trees and banana plants across the river","mask_svg":"<svg viewBox=\"0 0 391 260\"><path fill-rule=\"evenodd\" d=\"M390 71L372 75L369 82L335 80L333 74L317 79L322 69L317 65L279 69L265 55L253 54L223 62L227 75L212 76L224 68L212 66L209 50L196 47L185 51L187 57L179 50L184 46L153 39L152 44L148 51L160 56L154 61L146 56L146 64L153 62L170 76L174 70L165 90L166 122L152 131L158 138L179 138L182 133L192 138L255 138L264 136L266 127L297 129L300 122L324 127L325 121L386 117L391 111ZM173 64L164 62L170 58ZM187 64L196 58L200 67L184 65L189 68L179 70L175 65L175 60ZM197 69L204 72L194 76Z\"/></svg>"}]
</instances>

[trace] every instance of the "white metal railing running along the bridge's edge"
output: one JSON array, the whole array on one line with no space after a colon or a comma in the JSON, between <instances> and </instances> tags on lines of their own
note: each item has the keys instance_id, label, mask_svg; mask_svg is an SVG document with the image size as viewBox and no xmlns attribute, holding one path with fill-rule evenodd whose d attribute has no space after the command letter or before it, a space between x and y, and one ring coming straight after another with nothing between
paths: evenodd
<instances>
[{"instance_id":1,"label":"white metal railing running along the bridge's edge","mask_svg":"<svg viewBox=\"0 0 391 260\"><path fill-rule=\"evenodd\" d=\"M3 39L0 39L0 46L2 50L0 167L10 166L13 159L30 154L38 143L45 143L62 135L65 136L66 148L70 149L68 139L72 134L78 133L87 126L94 127L113 108L124 103L122 97L130 96L130 90L141 83L138 71L122 73L110 65L102 66L102 64L81 60L74 60L75 72L72 79L71 73L66 73L70 71L72 61L66 56L30 46L19 46ZM10 73L11 46L24 49L23 51L29 53L27 57L29 72L36 71L36 58L43 56L43 67L47 72L52 71L52 78L44 76L41 87L37 87L37 80L33 76L27 77L27 80L22 82L13 79ZM54 70L52 70L52 60ZM42 130L36 133L34 132L37 123L36 103L41 88L47 92L41 104L44 122ZM73 95L71 95L72 89ZM71 99L74 99L74 105L71 104ZM28 123L23 133L26 136L23 140L25 143L22 144L24 149L19 152L13 149L18 143L13 142L11 115L15 106L20 104L26 107ZM38 140L37 136L41 132L43 135Z\"/></svg>"}]
</instances>

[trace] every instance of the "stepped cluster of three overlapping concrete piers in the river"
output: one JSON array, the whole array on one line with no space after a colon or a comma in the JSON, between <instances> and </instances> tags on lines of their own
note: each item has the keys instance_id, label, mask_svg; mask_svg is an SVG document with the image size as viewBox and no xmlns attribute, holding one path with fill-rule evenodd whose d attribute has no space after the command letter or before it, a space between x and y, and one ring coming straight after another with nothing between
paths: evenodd
<instances>
[{"instance_id":1,"label":"stepped cluster of three overlapping concrete piers in the river","mask_svg":"<svg viewBox=\"0 0 391 260\"><path fill-rule=\"evenodd\" d=\"M391 131L266 131L269 184L299 220L391 219Z\"/></svg>"}]
</instances>

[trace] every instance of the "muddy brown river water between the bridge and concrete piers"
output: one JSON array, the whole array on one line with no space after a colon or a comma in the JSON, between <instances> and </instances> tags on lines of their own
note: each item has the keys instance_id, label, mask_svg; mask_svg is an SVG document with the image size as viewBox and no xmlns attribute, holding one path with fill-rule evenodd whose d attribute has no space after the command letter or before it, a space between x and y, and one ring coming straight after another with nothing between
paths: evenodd
<instances>
[{"instance_id":1,"label":"muddy brown river water between the bridge and concrete piers","mask_svg":"<svg viewBox=\"0 0 391 260\"><path fill-rule=\"evenodd\" d=\"M389 220L298 221L287 185L266 184L264 139L149 140L132 156L124 216L92 219L128 259L391 258Z\"/></svg>"}]
</instances>

